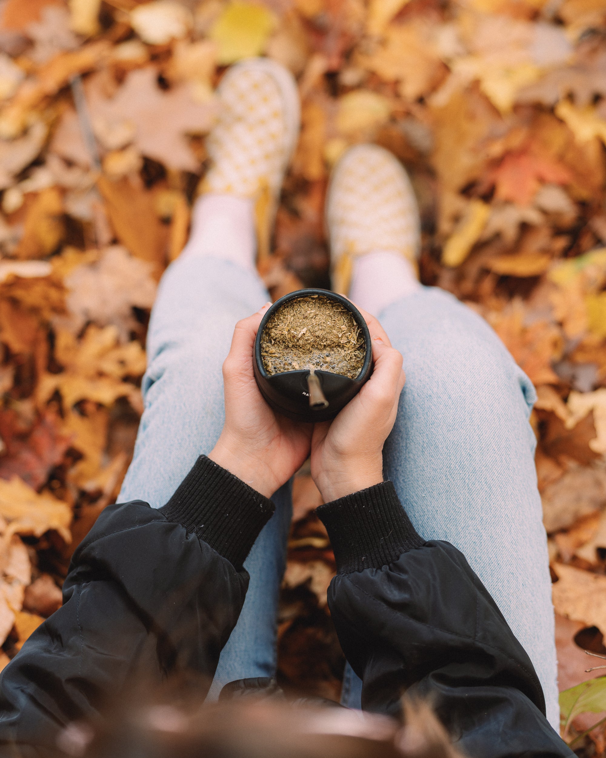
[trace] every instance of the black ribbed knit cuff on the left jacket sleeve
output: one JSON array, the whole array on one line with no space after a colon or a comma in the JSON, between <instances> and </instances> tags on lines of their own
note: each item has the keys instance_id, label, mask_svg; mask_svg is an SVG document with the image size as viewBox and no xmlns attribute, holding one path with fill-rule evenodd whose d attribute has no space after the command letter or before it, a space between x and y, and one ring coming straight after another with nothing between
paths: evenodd
<instances>
[{"instance_id":1,"label":"black ribbed knit cuff on the left jacket sleeve","mask_svg":"<svg viewBox=\"0 0 606 758\"><path fill-rule=\"evenodd\" d=\"M241 568L275 509L267 497L200 456L160 512Z\"/></svg>"}]
</instances>

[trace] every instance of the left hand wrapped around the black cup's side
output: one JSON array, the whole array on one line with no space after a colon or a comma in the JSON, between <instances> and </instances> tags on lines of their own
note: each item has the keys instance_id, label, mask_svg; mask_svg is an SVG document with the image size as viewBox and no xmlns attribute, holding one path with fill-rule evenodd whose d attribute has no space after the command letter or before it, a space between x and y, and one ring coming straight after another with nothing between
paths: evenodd
<instances>
[{"instance_id":1,"label":"left hand wrapped around the black cup's side","mask_svg":"<svg viewBox=\"0 0 606 758\"><path fill-rule=\"evenodd\" d=\"M208 456L246 484L270 497L309 455L311 424L275 414L263 399L252 369L252 349L267 303L239 321L223 363L225 424Z\"/></svg>"}]
</instances>

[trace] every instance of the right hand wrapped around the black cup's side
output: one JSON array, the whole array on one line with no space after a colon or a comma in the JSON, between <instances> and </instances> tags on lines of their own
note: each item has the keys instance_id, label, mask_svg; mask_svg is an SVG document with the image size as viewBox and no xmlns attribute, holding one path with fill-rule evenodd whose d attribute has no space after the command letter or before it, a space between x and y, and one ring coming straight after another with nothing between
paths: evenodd
<instances>
[{"instance_id":1,"label":"right hand wrapped around the black cup's side","mask_svg":"<svg viewBox=\"0 0 606 758\"><path fill-rule=\"evenodd\" d=\"M361 314L373 345L373 374L333 421L314 425L311 438L311 476L325 503L383 481L383 443L406 379L402 356L379 321Z\"/></svg>"}]
</instances>

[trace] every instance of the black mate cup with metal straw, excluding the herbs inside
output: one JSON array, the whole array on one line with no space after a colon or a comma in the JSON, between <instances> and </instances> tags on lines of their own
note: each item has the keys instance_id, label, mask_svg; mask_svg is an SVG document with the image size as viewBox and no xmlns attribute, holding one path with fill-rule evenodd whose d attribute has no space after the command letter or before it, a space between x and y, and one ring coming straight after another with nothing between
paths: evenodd
<instances>
[{"instance_id":1,"label":"black mate cup with metal straw, excluding the herbs inside","mask_svg":"<svg viewBox=\"0 0 606 758\"><path fill-rule=\"evenodd\" d=\"M270 376L263 368L261 334L263 334L265 324L285 302L310 295L320 295L344 305L360 327L364 336L366 356L364 357L364 365L355 379L320 369L314 371L311 378L311 372L308 369L283 371L281 374ZM252 365L259 390L274 411L295 421L311 421L311 423L314 421L330 421L358 394L373 371L373 348L370 344L370 333L361 312L347 298L330 292L330 290L296 290L276 300L264 315L255 340L255 356Z\"/></svg>"}]
</instances>

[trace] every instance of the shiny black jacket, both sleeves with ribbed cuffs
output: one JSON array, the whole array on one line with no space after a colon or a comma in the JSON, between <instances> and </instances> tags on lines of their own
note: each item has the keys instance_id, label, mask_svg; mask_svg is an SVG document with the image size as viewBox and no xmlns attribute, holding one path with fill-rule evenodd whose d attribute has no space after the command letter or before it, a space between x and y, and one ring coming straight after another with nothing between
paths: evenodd
<instances>
[{"instance_id":1,"label":"shiny black jacket, both sleeves with ribbed cuffs","mask_svg":"<svg viewBox=\"0 0 606 758\"><path fill-rule=\"evenodd\" d=\"M273 503L202 456L164 508L102 512L64 604L0 678L0 753L42 756L138 677L212 678L244 603L242 562ZM391 482L318 509L338 573L329 605L364 709L430 696L468 756L572 756L545 719L529 657L464 556L426 542ZM17 751L15 751L17 747Z\"/></svg>"}]
</instances>

